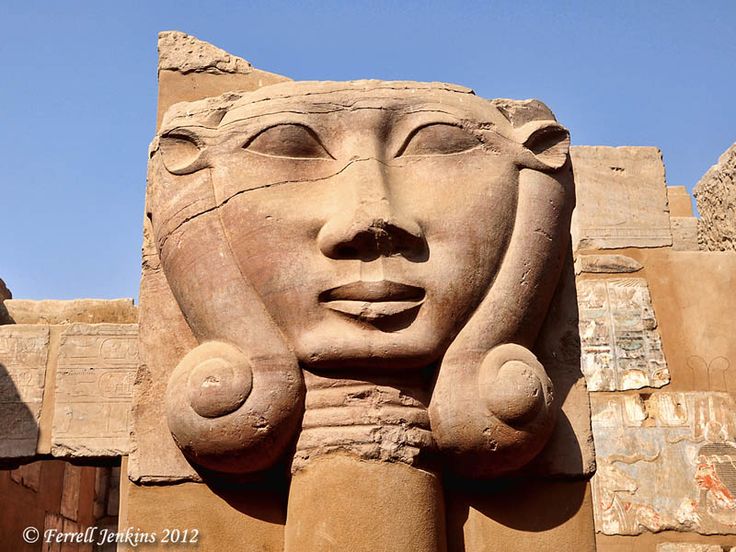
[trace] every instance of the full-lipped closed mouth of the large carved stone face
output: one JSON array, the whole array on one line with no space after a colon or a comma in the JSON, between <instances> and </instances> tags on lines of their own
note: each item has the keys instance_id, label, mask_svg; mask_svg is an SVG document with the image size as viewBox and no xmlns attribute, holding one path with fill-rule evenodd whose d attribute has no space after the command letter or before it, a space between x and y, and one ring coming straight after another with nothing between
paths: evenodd
<instances>
[{"instance_id":1,"label":"full-lipped closed mouth of the large carved stone face","mask_svg":"<svg viewBox=\"0 0 736 552\"><path fill-rule=\"evenodd\" d=\"M319 295L320 303L328 309L367 322L417 309L424 298L422 288L389 280L353 282Z\"/></svg>"}]
</instances>

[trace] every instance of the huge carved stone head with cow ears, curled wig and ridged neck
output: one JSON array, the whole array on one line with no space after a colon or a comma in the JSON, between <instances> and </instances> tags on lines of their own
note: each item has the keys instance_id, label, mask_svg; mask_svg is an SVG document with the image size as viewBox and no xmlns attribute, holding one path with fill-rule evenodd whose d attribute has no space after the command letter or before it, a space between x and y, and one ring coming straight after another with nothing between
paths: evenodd
<instances>
[{"instance_id":1,"label":"huge carved stone head with cow ears, curled wig and ridged neck","mask_svg":"<svg viewBox=\"0 0 736 552\"><path fill-rule=\"evenodd\" d=\"M173 106L148 219L199 343L166 396L185 456L254 472L300 435L293 469L338 450L527 463L555 420L530 349L568 243L568 143L539 102L437 83Z\"/></svg>"}]
</instances>

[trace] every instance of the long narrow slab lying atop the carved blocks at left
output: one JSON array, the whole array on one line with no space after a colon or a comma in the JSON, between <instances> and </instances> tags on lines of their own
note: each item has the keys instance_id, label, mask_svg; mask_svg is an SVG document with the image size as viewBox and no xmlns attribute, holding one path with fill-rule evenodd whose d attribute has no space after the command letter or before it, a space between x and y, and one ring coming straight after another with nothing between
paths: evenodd
<instances>
[{"instance_id":1,"label":"long narrow slab lying atop the carved blocks at left","mask_svg":"<svg viewBox=\"0 0 736 552\"><path fill-rule=\"evenodd\" d=\"M11 299L4 304L9 322L15 324L134 324L138 321L138 308L132 299Z\"/></svg>"}]
</instances>

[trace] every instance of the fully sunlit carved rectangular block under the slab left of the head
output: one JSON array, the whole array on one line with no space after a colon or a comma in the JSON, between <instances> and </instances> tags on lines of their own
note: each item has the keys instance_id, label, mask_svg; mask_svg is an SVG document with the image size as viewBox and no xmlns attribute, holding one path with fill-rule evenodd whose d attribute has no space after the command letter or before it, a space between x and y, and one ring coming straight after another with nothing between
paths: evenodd
<instances>
[{"instance_id":1,"label":"fully sunlit carved rectangular block under the slab left of the head","mask_svg":"<svg viewBox=\"0 0 736 552\"><path fill-rule=\"evenodd\" d=\"M128 453L136 324L72 324L61 334L52 430L55 456Z\"/></svg>"}]
</instances>

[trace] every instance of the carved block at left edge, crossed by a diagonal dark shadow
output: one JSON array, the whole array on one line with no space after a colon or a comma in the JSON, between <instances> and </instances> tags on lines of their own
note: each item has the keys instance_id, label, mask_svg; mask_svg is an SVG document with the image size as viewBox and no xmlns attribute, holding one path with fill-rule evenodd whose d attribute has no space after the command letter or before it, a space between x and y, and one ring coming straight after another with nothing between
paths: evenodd
<instances>
[{"instance_id":1,"label":"carved block at left edge, crossed by a diagonal dark shadow","mask_svg":"<svg viewBox=\"0 0 736 552\"><path fill-rule=\"evenodd\" d=\"M48 346L47 326L0 326L0 458L36 453Z\"/></svg>"}]
</instances>

